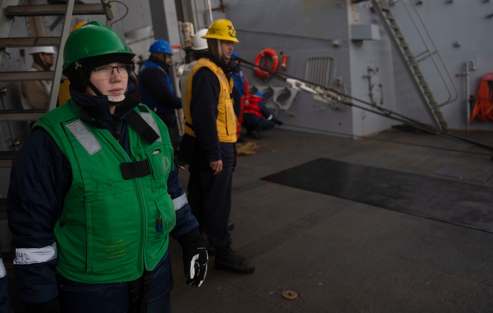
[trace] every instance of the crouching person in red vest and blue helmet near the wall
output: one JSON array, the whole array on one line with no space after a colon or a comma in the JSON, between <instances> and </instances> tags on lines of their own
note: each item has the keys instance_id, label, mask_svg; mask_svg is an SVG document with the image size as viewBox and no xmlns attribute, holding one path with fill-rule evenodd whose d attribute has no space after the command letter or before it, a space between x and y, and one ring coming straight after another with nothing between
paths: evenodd
<instances>
[{"instance_id":1,"label":"crouching person in red vest and blue helmet near the wall","mask_svg":"<svg viewBox=\"0 0 493 313\"><path fill-rule=\"evenodd\" d=\"M265 106L264 95L255 92L250 95L248 100L248 105L245 106L243 114L243 126L246 128L246 136L260 139L259 132L271 130L276 127L276 124L283 124Z\"/></svg>"}]
</instances>

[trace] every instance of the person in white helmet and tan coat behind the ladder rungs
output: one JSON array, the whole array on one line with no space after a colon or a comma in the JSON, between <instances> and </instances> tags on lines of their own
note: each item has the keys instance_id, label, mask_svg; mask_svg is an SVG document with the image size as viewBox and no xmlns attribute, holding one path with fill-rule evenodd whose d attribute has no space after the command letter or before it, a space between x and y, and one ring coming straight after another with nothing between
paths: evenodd
<instances>
[{"instance_id":1,"label":"person in white helmet and tan coat behind the ladder rungs","mask_svg":"<svg viewBox=\"0 0 493 313\"><path fill-rule=\"evenodd\" d=\"M33 47L29 51L33 65L29 71L47 71L55 63L54 47ZM25 80L21 82L21 103L24 109L46 109L50 100L51 80Z\"/></svg>"}]
</instances>

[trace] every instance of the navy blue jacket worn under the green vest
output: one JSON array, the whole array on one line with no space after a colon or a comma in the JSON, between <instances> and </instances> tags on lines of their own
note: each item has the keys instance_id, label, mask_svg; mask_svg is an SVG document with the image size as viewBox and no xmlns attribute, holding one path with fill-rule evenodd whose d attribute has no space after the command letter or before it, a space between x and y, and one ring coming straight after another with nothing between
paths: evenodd
<instances>
[{"instance_id":1,"label":"navy blue jacket worn under the green vest","mask_svg":"<svg viewBox=\"0 0 493 313\"><path fill-rule=\"evenodd\" d=\"M88 96L72 89L70 95L94 119L101 121L130 154L128 130L123 118L139 102L127 98L116 108L115 114L111 115L106 96ZM7 216L14 248L42 248L55 242L53 229L70 183L71 169L67 157L44 129L35 128L22 149L16 153L10 173ZM184 194L176 163L168 177L168 193L172 199ZM190 212L190 206L185 204L176 210L176 226L171 236L180 238L197 227L198 223ZM14 269L21 303L47 303L58 296L56 258L48 262L14 265ZM152 272L159 270L156 267ZM158 287L165 292L171 288L172 283L166 281Z\"/></svg>"}]
</instances>

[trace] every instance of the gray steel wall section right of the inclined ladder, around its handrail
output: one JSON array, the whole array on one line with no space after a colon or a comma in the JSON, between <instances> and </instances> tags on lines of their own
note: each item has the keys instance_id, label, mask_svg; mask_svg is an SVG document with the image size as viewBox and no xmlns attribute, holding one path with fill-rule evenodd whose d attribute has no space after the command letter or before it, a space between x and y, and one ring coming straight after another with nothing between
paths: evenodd
<instances>
[{"instance_id":1,"label":"gray steel wall section right of the inclined ladder, around its handrail","mask_svg":"<svg viewBox=\"0 0 493 313\"><path fill-rule=\"evenodd\" d=\"M399 3L397 3L399 4ZM477 95L481 77L493 71L493 41L491 40L491 29L493 18L487 18L488 14L493 13L493 2L483 0L456 0L456 1L423 1L422 5L417 6L423 22L426 25L431 37L433 38L438 50L440 51L444 63L453 75L453 80L459 91L459 98L453 104L445 105L442 108L444 116L451 128L464 129L466 126L466 99L465 77L461 75L465 70L467 60L473 60L476 63L476 71L471 72L470 76L470 94ZM404 19L402 5L396 5L395 15ZM408 32L409 33L409 32ZM417 46L419 51L419 38L413 35L407 35L406 39L411 44ZM454 42L458 41L460 46L454 47ZM396 81L403 80L401 65L396 65ZM435 83L439 90L436 93L437 100L445 98L443 87L439 87L438 79L433 76L430 68L424 68L425 75L435 77L430 79ZM408 104L417 102L412 90L407 84L398 84L396 86L398 95L407 98ZM401 108L403 111L409 111L409 105ZM471 129L493 130L492 122L475 121L470 126Z\"/></svg>"}]
</instances>

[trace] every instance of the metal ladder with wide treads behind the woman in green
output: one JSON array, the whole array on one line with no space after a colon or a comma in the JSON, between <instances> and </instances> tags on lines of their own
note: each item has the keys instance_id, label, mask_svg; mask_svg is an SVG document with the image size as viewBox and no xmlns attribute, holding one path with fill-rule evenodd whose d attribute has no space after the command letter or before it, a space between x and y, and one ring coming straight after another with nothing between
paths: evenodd
<instances>
[{"instance_id":1,"label":"metal ladder with wide treads behind the woman in green","mask_svg":"<svg viewBox=\"0 0 493 313\"><path fill-rule=\"evenodd\" d=\"M97 4L75 4L75 0L67 0L67 4L33 4L19 5L19 0L3 0L0 11L0 64L6 48L15 47L35 47L35 46L58 46L56 62L53 71L11 71L0 72L0 82L14 82L24 80L52 80L50 99L48 108L44 109L15 109L0 110L0 122L22 122L35 121L47 111L54 109L57 105L58 91L60 81L62 80L63 50L64 43L70 35L70 23L72 15L106 15L107 22L113 20L113 10L107 4L107 0L101 0ZM36 2L37 3L37 2ZM35 37L9 37L14 17L32 17L32 16L61 16L63 17L63 28L61 36L35 36ZM44 31L44 30L43 30ZM12 159L16 151L0 151L0 167L10 168ZM6 199L0 199L0 220L7 219ZM4 224L2 224L4 225ZM3 251L2 257L7 269L7 276L13 280L12 261L14 252ZM17 299L10 298L12 306L19 306ZM14 311L15 312L15 311Z\"/></svg>"}]
</instances>

